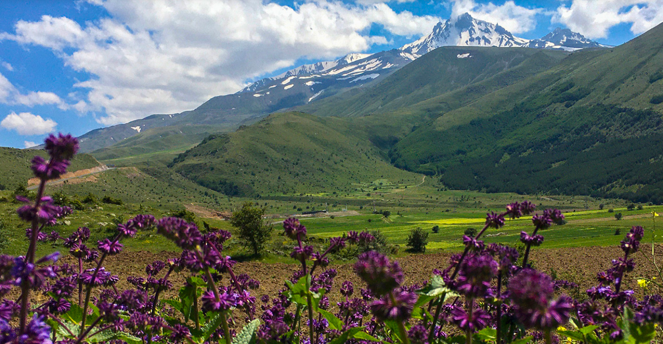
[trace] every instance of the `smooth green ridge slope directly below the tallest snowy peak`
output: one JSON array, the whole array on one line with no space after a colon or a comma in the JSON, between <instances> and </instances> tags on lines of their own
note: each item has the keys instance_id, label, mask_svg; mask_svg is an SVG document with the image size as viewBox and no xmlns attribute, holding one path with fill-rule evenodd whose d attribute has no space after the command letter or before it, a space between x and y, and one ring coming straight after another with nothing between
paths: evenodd
<instances>
[{"instance_id":1,"label":"smooth green ridge slope directly below the tallest snowy peak","mask_svg":"<svg viewBox=\"0 0 663 344\"><path fill-rule=\"evenodd\" d=\"M470 55L459 58L463 54ZM375 87L328 97L298 109L337 117L389 113L460 89L453 97L437 101L457 107L467 99L476 99L542 72L567 55L568 52L557 50L443 46L394 72Z\"/></svg>"}]
</instances>

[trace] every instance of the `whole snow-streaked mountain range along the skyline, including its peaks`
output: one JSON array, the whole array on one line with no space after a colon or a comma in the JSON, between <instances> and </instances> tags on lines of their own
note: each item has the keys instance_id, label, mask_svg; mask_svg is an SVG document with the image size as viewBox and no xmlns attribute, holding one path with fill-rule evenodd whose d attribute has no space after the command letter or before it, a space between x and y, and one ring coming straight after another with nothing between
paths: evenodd
<instances>
[{"instance_id":1,"label":"whole snow-streaked mountain range along the skyline, including its peaks","mask_svg":"<svg viewBox=\"0 0 663 344\"><path fill-rule=\"evenodd\" d=\"M253 82L237 93L213 97L192 111L152 115L131 123L91 131L82 137L82 150L89 152L109 146L157 127L197 124L229 128L249 123L274 111L304 105L347 89L375 84L440 46L499 46L573 51L603 45L568 29L556 29L540 39L527 40L514 36L497 24L475 19L465 13L438 23L430 34L398 49L375 54L348 54L334 61L305 64L278 76ZM458 55L458 58L465 57L470 56Z\"/></svg>"}]
</instances>

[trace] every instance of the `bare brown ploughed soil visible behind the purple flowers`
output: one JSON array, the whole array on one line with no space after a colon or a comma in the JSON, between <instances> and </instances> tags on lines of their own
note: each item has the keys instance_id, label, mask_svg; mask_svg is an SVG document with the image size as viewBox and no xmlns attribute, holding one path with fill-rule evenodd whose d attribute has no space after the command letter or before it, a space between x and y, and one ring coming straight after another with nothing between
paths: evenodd
<instances>
[{"instance_id":1,"label":"bare brown ploughed soil visible behind the purple flowers","mask_svg":"<svg viewBox=\"0 0 663 344\"><path fill-rule=\"evenodd\" d=\"M430 278L434 268L444 268L452 253L436 253L432 255L409 255L398 258L398 262L405 272L405 283L421 283ZM640 276L652 277L657 272L654 266L646 260L645 255L651 258L651 247L641 245L641 251L634 255L636 268L627 278L625 285L627 288L638 290L638 286L633 278ZM596 273L606 270L611 266L611 260L623 256L619 247L585 247L570 249L533 249L531 258L534 260L536 268L551 274L556 272L558 278L567 279L581 286L581 290L586 290L596 283ZM120 276L119 286L129 287L126 282L127 276L145 275L145 265L154 260L165 260L166 258L178 257L177 253L149 253L149 252L123 252L119 255L107 259L107 269L113 274ZM68 259L70 257L65 257ZM663 263L663 246L656 246L657 262L661 266ZM72 259L73 260L73 259ZM337 264L330 266L336 268L338 275L335 279L334 290L330 297L332 300L338 297L338 288L345 280L351 280L355 284L355 290L361 286L359 278L354 274L351 264ZM278 290L284 286L284 280L291 276L297 270L296 264L283 263L263 263L263 262L239 262L235 266L237 274L247 273L261 282L258 290L253 294L261 296L263 294L275 295ZM174 276L172 281L174 286L181 286L186 276L179 274ZM171 294L174 295L172 290Z\"/></svg>"}]
</instances>

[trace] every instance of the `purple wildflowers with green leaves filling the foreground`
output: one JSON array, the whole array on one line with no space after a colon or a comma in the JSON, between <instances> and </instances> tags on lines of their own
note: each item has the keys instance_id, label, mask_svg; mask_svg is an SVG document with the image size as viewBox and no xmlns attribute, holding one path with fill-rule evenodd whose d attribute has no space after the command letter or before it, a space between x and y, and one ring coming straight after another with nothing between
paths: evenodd
<instances>
[{"instance_id":1,"label":"purple wildflowers with green leaves filling the foreground","mask_svg":"<svg viewBox=\"0 0 663 344\"><path fill-rule=\"evenodd\" d=\"M131 341L144 343L223 339L231 344L241 321L256 326L252 321L256 300L250 291L259 288L260 282L247 274L235 274L235 260L223 253L231 238L227 231L207 225L200 231L196 224L177 217L157 221L151 215L137 215L117 225L114 235L98 240L96 245L88 242L91 233L86 227L65 238L55 231L46 234L44 227L54 225L71 209L57 207L44 195L45 182L64 173L77 149L78 142L70 135L50 135L46 139L50 160L33 160L32 170L42 183L35 200L19 199L25 204L18 210L21 219L30 222L26 231L29 250L23 257L0 255L0 343L121 343L133 337ZM642 227L629 231L621 242L623 257L597 274L598 285L587 290L588 298L582 302L556 294L560 289L577 289L573 282L552 280L527 264L531 247L543 242L538 231L563 223L559 210L532 215L534 231L520 234L526 245L520 266L516 266L519 255L514 247L481 241L485 231L503 227L506 218L517 219L534 210L532 203L524 201L508 204L502 213L488 213L483 229L474 237L464 236L463 252L453 255L446 268L434 270L425 286L405 286L398 262L368 251L375 238L367 231L333 237L326 249L316 251L307 242L306 227L297 219L286 219L284 235L296 241L290 257L300 268L276 296L261 297L259 341L367 344L375 338L394 344L434 344L448 337L443 328L453 328L450 333L458 335L453 342L471 343L480 336L477 331L494 327L497 343L525 335L552 343L556 328L573 317L575 325L598 325L583 335L603 336L600 341L591 341L603 343L627 340L634 331L663 323L663 297L648 295L637 300L633 290L623 288L625 276L634 269L632 255L640 249ZM144 276L127 278L132 288L119 290L119 277L106 269L105 260L121 253L122 239L153 227L182 249L180 257L154 260L145 267ZM55 265L58 253L34 257L39 241L61 241L75 258L74 263ZM338 272L328 264L333 254L349 245L357 245L359 252L367 251L353 264L366 288L349 281L341 283L341 298L334 309L330 293ZM172 272L184 272L186 284L178 290L179 298L163 302L159 297L173 287ZM17 287L21 288L17 302L5 297ZM43 304L30 304L33 290L43 293Z\"/></svg>"}]
</instances>

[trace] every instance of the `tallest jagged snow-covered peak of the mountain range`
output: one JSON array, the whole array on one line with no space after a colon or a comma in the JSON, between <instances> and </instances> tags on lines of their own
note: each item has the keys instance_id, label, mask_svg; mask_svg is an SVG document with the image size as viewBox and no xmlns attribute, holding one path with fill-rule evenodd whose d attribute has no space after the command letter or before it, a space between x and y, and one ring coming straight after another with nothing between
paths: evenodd
<instances>
[{"instance_id":1,"label":"tallest jagged snow-covered peak of the mountain range","mask_svg":"<svg viewBox=\"0 0 663 344\"><path fill-rule=\"evenodd\" d=\"M440 22L433 32L400 48L419 57L440 46L524 46L529 40L513 36L503 27L473 18L469 13Z\"/></svg>"}]
</instances>

